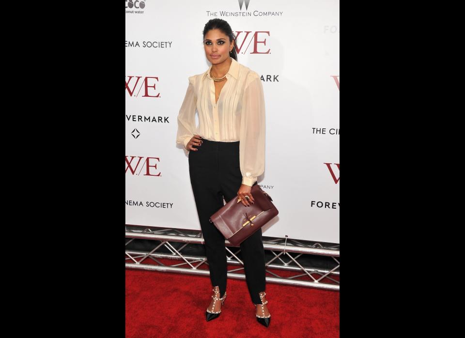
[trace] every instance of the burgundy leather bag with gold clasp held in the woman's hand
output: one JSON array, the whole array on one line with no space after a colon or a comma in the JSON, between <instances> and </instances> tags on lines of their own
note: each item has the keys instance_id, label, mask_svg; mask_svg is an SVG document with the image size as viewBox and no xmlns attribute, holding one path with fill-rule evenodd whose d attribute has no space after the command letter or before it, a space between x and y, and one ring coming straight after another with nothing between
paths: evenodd
<instances>
[{"instance_id":1,"label":"burgundy leather bag with gold clasp held in the woman's hand","mask_svg":"<svg viewBox=\"0 0 465 338\"><path fill-rule=\"evenodd\" d=\"M270 195L265 193L260 185L252 186L251 195L255 202L250 203L249 207L233 198L210 217L210 223L213 223L233 246L239 246L248 236L278 215L278 209L271 202Z\"/></svg>"}]
</instances>

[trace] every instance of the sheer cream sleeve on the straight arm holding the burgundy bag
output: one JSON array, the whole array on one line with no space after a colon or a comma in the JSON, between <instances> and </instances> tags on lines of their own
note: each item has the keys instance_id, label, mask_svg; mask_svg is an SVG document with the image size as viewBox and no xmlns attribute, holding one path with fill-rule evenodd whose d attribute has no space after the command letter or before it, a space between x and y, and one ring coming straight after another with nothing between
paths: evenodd
<instances>
[{"instance_id":1,"label":"sheer cream sleeve on the straight arm holding the burgundy bag","mask_svg":"<svg viewBox=\"0 0 465 338\"><path fill-rule=\"evenodd\" d=\"M257 74L244 90L239 161L242 184L253 185L265 167L265 102L262 81Z\"/></svg>"}]
</instances>

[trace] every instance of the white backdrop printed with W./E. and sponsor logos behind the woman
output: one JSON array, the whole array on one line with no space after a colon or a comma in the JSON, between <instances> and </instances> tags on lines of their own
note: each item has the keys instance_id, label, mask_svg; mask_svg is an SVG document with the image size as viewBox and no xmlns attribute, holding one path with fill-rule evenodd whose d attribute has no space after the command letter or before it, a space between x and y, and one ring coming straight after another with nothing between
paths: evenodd
<instances>
[{"instance_id":1,"label":"white backdrop printed with W./E. and sponsor logos behind the woman","mask_svg":"<svg viewBox=\"0 0 465 338\"><path fill-rule=\"evenodd\" d=\"M125 6L126 224L200 230L177 115L187 78L210 66L203 27L221 18L237 36L238 62L263 81L266 164L258 184L279 210L263 235L340 243L339 0Z\"/></svg>"}]
</instances>

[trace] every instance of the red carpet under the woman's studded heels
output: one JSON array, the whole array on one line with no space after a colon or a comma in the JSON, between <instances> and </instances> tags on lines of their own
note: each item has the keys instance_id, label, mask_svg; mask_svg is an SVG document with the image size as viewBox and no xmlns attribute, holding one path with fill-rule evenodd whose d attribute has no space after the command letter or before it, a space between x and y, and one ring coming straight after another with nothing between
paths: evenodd
<instances>
[{"instance_id":1,"label":"red carpet under the woman's studded heels","mask_svg":"<svg viewBox=\"0 0 465 338\"><path fill-rule=\"evenodd\" d=\"M210 277L126 269L126 338L339 337L339 292L267 283L266 328L237 279L228 279L220 317L206 322L211 291Z\"/></svg>"}]
</instances>

